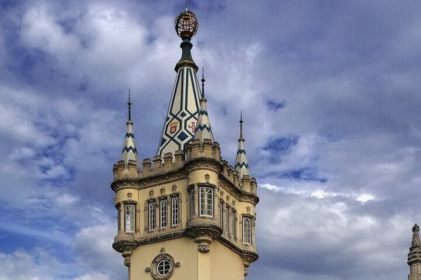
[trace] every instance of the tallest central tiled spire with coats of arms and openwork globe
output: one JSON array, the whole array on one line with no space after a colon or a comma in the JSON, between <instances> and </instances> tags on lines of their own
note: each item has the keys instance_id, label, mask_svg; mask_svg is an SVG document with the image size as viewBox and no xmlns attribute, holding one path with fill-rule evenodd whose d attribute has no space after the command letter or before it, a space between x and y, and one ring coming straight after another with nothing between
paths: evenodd
<instances>
[{"instance_id":1,"label":"tallest central tiled spire with coats of arms and openwork globe","mask_svg":"<svg viewBox=\"0 0 421 280\"><path fill-rule=\"evenodd\" d=\"M190 52L193 47L190 41L197 31L195 14L189 10L181 12L176 18L175 29L183 40L180 45L182 56L175 66L177 77L158 145L159 156L186 150L194 138L200 109L198 66Z\"/></svg>"}]
</instances>

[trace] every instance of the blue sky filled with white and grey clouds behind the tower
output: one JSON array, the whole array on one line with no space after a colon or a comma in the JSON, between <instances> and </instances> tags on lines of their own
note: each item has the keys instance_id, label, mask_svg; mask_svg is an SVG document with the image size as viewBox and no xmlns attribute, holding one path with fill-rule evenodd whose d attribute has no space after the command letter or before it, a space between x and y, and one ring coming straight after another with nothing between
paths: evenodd
<instances>
[{"instance_id":1,"label":"blue sky filled with white and grey clouds behind the tower","mask_svg":"<svg viewBox=\"0 0 421 280\"><path fill-rule=\"evenodd\" d=\"M125 279L127 91L159 142L184 0L0 0L0 279ZM222 156L259 183L248 280L406 279L421 223L421 2L190 0Z\"/></svg>"}]
</instances>

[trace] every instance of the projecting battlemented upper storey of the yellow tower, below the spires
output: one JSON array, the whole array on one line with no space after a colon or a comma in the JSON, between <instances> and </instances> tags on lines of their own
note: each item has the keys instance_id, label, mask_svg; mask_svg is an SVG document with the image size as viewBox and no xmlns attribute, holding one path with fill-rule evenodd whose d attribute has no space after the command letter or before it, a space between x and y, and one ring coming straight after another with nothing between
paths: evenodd
<instances>
[{"instance_id":1,"label":"projecting battlemented upper storey of the yellow tower, below the spires","mask_svg":"<svg viewBox=\"0 0 421 280\"><path fill-rule=\"evenodd\" d=\"M198 243L202 253L209 252L212 241L218 240L242 256L245 273L250 263L257 260L256 179L249 175L240 178L238 171L221 158L217 142L193 140L186 154L179 150L174 155L144 159L141 168L134 161L128 165L119 161L113 173L111 187L116 192L115 206L120 217L113 246L124 255L126 265L137 246L182 236ZM209 215L200 205L205 192L212 198ZM183 209L180 220L175 225L159 221L161 208L168 207L169 213L175 199L178 209ZM133 232L127 232L126 221L121 221L121 217L126 217L126 207L132 207L136 213ZM155 217L154 226L148 224L151 215Z\"/></svg>"}]
</instances>

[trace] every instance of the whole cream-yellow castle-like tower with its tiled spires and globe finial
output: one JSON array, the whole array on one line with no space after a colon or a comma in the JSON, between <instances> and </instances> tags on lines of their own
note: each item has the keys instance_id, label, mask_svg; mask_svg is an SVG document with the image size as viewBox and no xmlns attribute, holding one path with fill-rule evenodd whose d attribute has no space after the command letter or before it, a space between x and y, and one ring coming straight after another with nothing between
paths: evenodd
<instances>
[{"instance_id":1,"label":"whole cream-yellow castle-like tower with its tiled spires and globe finial","mask_svg":"<svg viewBox=\"0 0 421 280\"><path fill-rule=\"evenodd\" d=\"M118 234L113 248L129 280L243 280L257 260L256 179L250 177L242 135L235 168L220 155L198 66L191 56L197 31L193 12L175 21L182 57L157 156L141 164L131 103L121 160L114 165Z\"/></svg>"}]
</instances>

